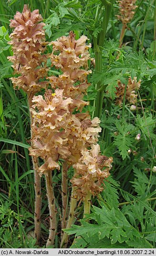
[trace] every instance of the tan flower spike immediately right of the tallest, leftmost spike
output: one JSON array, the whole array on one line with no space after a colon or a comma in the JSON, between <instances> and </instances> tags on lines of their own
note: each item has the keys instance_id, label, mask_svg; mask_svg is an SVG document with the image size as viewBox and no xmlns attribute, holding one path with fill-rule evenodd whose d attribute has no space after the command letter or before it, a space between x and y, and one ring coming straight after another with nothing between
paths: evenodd
<instances>
[{"instance_id":1,"label":"tan flower spike immediately right of the tallest, leftmost spike","mask_svg":"<svg viewBox=\"0 0 156 256\"><path fill-rule=\"evenodd\" d=\"M86 36L75 40L73 32L69 36L62 36L52 42L53 51L51 54L52 65L57 69L61 68L63 74L59 77L49 77L52 87L64 89L64 96L73 99L73 110L82 110L88 102L83 101L83 96L90 85L87 82L87 75L91 73L88 69L89 52L91 44L86 45ZM59 54L57 54L59 53Z\"/></svg>"}]
</instances>

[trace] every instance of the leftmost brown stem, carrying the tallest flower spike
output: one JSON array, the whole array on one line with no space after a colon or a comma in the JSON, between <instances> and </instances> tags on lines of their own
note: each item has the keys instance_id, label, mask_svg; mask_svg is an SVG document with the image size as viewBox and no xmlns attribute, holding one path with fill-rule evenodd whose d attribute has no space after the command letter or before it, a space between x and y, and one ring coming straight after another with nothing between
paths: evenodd
<instances>
[{"instance_id":1,"label":"leftmost brown stem, carrying the tallest flower spike","mask_svg":"<svg viewBox=\"0 0 156 256\"><path fill-rule=\"evenodd\" d=\"M32 98L34 94L28 94L28 104L29 109L32 106ZM31 124L32 124L32 115L30 114ZM31 130L31 138L32 138L32 130ZM39 161L36 160L32 156L32 164L34 170L34 190L35 190L35 215L34 215L34 222L35 222L35 230L34 235L36 238L36 245L39 245L40 237L41 237L41 206L42 206L42 198L41 198L41 177L37 171L37 167L39 166Z\"/></svg>"}]
</instances>

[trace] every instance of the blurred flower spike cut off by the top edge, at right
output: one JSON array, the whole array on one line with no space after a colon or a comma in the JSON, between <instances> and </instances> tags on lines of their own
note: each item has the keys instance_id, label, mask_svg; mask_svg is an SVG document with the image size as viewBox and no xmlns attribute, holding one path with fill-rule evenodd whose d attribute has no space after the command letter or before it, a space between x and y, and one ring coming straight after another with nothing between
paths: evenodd
<instances>
[{"instance_id":1,"label":"blurred flower spike cut off by the top edge, at right","mask_svg":"<svg viewBox=\"0 0 156 256\"><path fill-rule=\"evenodd\" d=\"M117 19L122 21L122 23L127 26L127 23L129 23L134 14L135 14L135 9L137 6L135 5L136 0L120 0L118 1L119 3L119 10L120 10L120 15L117 15Z\"/></svg>"}]
</instances>

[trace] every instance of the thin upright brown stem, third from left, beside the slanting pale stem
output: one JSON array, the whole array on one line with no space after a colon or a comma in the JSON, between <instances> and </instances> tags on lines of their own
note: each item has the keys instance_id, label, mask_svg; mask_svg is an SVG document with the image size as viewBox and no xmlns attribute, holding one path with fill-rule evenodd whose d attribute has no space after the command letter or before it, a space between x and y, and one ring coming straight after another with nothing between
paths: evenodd
<instances>
[{"instance_id":1,"label":"thin upright brown stem, third from left, beside the slanting pale stem","mask_svg":"<svg viewBox=\"0 0 156 256\"><path fill-rule=\"evenodd\" d=\"M62 164L62 229L65 228L66 217L67 217L67 203L68 203L67 170L68 170L68 164L66 162L63 162Z\"/></svg>"}]
</instances>

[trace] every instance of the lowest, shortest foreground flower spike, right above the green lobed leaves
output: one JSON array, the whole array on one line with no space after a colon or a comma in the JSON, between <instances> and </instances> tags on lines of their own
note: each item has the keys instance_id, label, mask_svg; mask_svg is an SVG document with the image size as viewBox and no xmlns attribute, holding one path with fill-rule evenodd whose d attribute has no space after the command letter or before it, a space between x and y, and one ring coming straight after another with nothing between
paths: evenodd
<instances>
[{"instance_id":1,"label":"lowest, shortest foreground flower spike, right above the green lobed leaves","mask_svg":"<svg viewBox=\"0 0 156 256\"><path fill-rule=\"evenodd\" d=\"M93 145L92 149L84 149L79 162L74 164L76 170L71 182L75 187L74 196L77 200L83 200L86 195L91 193L97 195L103 191L104 178L107 178L112 168L113 158L99 155L100 146Z\"/></svg>"}]
</instances>

